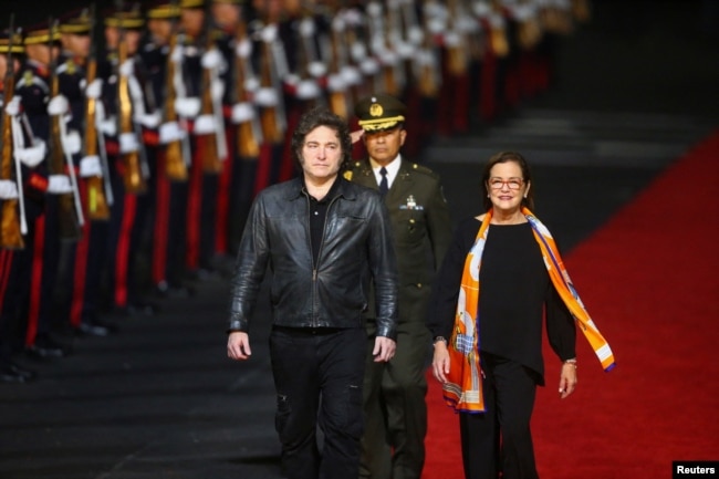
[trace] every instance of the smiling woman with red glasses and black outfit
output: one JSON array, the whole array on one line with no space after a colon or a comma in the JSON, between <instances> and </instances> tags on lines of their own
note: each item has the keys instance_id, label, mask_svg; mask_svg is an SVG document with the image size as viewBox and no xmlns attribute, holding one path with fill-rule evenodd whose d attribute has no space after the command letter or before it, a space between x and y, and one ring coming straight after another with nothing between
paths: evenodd
<instances>
[{"instance_id":1,"label":"smiling woman with red glasses and black outfit","mask_svg":"<svg viewBox=\"0 0 719 479\"><path fill-rule=\"evenodd\" d=\"M520 154L504 152L490 158L481 181L486 212L459 225L433 290L434 311L428 320L435 337L433 372L444 384L447 402L460 413L467 479L497 479L500 473L502 479L538 478L530 418L536 386L544 385L543 316L550 344L562 361L561 397L567 397L576 386L574 319L550 279L541 239L530 221L535 220L530 218L531 186L529 166ZM475 262L467 261L480 242L483 248ZM473 300L473 314L468 313L471 304L467 304L465 314L475 317L466 325L469 331L459 331L456 315L458 301L462 304L466 295L466 271L475 271L476 289L479 291L481 284L481 294ZM478 334L472 334L475 327ZM473 352L479 352L475 379L480 385L475 395L483 399L482 406L462 406L462 400L473 397L463 389L454 398L447 394L451 391L447 386L455 383L450 372L461 367L450 361L450 350L461 343L458 336L470 345L465 347L471 347L472 354L466 351L465 360L471 361ZM475 342L467 343L472 336Z\"/></svg>"}]
</instances>

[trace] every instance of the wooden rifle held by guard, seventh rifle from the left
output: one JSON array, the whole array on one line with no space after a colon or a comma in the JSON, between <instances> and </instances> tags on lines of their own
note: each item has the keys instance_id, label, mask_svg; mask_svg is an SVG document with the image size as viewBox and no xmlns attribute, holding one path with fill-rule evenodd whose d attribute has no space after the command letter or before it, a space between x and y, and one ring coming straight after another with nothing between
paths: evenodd
<instances>
[{"instance_id":1,"label":"wooden rifle held by guard, seventh rifle from the left","mask_svg":"<svg viewBox=\"0 0 719 479\"><path fill-rule=\"evenodd\" d=\"M250 82L254 82L254 72L250 63L252 43L247 34L244 18L238 21L235 40L236 55L233 67L235 92L233 101L238 111L237 150L240 158L254 158L260 155L262 131L257 122L254 106L247 90ZM235 116L235 115L233 115Z\"/></svg>"}]
</instances>

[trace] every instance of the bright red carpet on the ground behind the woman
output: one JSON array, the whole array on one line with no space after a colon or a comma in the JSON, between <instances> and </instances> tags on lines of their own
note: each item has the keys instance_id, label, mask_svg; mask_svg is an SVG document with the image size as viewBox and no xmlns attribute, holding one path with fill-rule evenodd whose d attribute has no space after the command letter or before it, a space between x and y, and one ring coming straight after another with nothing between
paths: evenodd
<instances>
[{"instance_id":1,"label":"bright red carpet on the ground behind the woman","mask_svg":"<svg viewBox=\"0 0 719 479\"><path fill-rule=\"evenodd\" d=\"M560 400L545 346L532 425L543 479L661 479L673 460L719 459L718 178L716 132L565 258L617 367L604 373L577 333L580 384ZM461 479L457 418L429 381L423 477Z\"/></svg>"}]
</instances>

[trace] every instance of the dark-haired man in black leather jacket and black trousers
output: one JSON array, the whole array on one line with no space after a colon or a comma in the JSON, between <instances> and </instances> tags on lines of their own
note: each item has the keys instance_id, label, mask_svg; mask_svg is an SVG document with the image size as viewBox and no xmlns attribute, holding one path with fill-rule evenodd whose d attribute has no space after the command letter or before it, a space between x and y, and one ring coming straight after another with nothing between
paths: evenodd
<instances>
[{"instance_id":1,"label":"dark-haired man in black leather jacket and black trousers","mask_svg":"<svg viewBox=\"0 0 719 479\"><path fill-rule=\"evenodd\" d=\"M250 317L268 267L272 271L275 428L289 479L357 477L363 312L371 287L375 361L389 361L396 346L397 267L388 214L377 191L338 175L351 148L341 117L325 108L302 116L292 135L302 176L258 195L232 279L228 356L248 360Z\"/></svg>"}]
</instances>

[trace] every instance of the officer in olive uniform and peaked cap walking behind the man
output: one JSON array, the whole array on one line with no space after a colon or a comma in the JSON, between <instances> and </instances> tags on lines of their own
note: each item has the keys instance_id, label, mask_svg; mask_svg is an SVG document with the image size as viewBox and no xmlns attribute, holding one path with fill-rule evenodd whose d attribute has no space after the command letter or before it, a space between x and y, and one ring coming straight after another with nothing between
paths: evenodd
<instances>
[{"instance_id":1,"label":"officer in olive uniform and peaked cap walking behind the man","mask_svg":"<svg viewBox=\"0 0 719 479\"><path fill-rule=\"evenodd\" d=\"M354 163L345 177L383 195L399 273L397 351L386 365L373 361L376 324L373 317L366 323L359 476L419 479L427 433L425 373L431 350L425 314L434 274L451 241L452 223L439 176L399 152L408 135L405 105L394 96L376 94L361 100L355 114L368 157Z\"/></svg>"}]
</instances>

